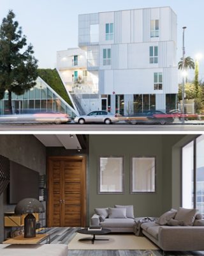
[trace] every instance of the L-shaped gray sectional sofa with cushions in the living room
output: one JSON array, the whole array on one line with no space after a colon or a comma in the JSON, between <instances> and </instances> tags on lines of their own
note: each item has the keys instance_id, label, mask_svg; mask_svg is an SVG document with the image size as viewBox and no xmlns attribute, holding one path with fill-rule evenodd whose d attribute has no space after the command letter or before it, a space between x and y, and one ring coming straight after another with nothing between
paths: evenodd
<instances>
[{"instance_id":1,"label":"L-shaped gray sectional sofa with cushions in the living room","mask_svg":"<svg viewBox=\"0 0 204 256\"><path fill-rule=\"evenodd\" d=\"M121 205L122 207L122 205ZM131 205L127 205L128 211L133 211ZM104 210L104 209L103 209ZM126 208L127 210L127 208ZM91 225L100 225L109 228L112 232L136 233L136 222L133 214L128 216L111 216L101 212L100 209L91 218ZM127 212L128 212L127 211ZM103 215L105 214L105 216ZM122 218L119 218L122 217ZM131 217L131 218L129 218ZM204 250L204 220L196 209L179 208L165 212L154 222L143 223L141 219L142 234L157 244L163 251L203 251Z\"/></svg>"}]
</instances>

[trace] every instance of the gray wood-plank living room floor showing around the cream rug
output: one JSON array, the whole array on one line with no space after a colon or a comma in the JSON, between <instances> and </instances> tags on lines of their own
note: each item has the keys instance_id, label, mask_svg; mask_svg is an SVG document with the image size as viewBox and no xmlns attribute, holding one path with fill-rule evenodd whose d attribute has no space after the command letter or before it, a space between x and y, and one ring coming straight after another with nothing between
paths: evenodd
<instances>
[{"instance_id":1,"label":"gray wood-plank living room floor showing around the cream rug","mask_svg":"<svg viewBox=\"0 0 204 256\"><path fill-rule=\"evenodd\" d=\"M77 228L47 228L50 243L69 244ZM68 256L163 256L163 251L154 250L153 255L143 250L69 250ZM165 252L165 256L203 256L204 252Z\"/></svg>"}]
</instances>

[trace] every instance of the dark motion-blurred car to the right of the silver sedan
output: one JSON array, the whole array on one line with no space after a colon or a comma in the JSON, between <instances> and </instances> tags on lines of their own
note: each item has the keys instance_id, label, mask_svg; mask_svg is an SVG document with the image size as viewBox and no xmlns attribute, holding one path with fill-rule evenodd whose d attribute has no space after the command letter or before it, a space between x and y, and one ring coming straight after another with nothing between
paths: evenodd
<instances>
[{"instance_id":1,"label":"dark motion-blurred car to the right of the silver sedan","mask_svg":"<svg viewBox=\"0 0 204 256\"><path fill-rule=\"evenodd\" d=\"M162 111L147 111L143 113L135 113L128 116L126 122L129 124L166 124L173 122L173 116Z\"/></svg>"}]
</instances>

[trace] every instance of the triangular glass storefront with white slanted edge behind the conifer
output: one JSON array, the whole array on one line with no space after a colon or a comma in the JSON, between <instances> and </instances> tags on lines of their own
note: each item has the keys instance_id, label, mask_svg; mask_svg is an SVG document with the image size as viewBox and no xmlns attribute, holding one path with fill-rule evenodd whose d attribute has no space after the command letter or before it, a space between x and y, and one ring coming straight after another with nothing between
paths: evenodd
<instances>
[{"instance_id":1,"label":"triangular glass storefront with white slanted edge behind the conifer","mask_svg":"<svg viewBox=\"0 0 204 256\"><path fill-rule=\"evenodd\" d=\"M25 92L24 95L15 95L15 93L12 93L11 97L13 113L16 114L32 113L35 111L54 111L76 116L71 106L39 78L36 81L36 85L31 90ZM10 114L8 108L8 92L5 93L4 99L0 100L0 114Z\"/></svg>"}]
</instances>

